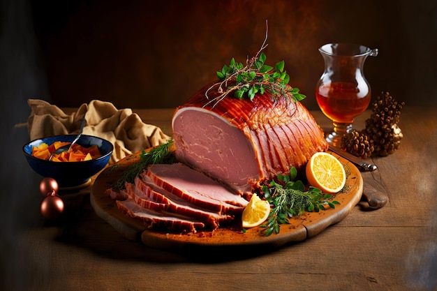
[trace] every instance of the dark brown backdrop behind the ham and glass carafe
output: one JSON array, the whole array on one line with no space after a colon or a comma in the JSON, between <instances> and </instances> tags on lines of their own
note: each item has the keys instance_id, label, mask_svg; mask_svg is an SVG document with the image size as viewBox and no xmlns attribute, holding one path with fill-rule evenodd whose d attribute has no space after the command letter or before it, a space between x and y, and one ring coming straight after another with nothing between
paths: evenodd
<instances>
[{"instance_id":1,"label":"dark brown backdrop behind the ham and glass carafe","mask_svg":"<svg viewBox=\"0 0 437 291\"><path fill-rule=\"evenodd\" d=\"M31 13L48 89L34 97L59 106L176 107L256 54L266 20L267 63L286 61L310 109L329 42L379 49L364 64L373 98L436 104L436 1L33 1Z\"/></svg>"}]
</instances>

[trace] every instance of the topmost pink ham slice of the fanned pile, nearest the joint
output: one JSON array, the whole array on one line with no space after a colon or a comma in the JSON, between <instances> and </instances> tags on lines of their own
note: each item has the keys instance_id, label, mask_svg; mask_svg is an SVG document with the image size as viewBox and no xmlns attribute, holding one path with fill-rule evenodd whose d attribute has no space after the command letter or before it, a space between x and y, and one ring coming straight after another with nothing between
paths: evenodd
<instances>
[{"instance_id":1,"label":"topmost pink ham slice of the fanned pile, nearest the joint","mask_svg":"<svg viewBox=\"0 0 437 291\"><path fill-rule=\"evenodd\" d=\"M157 186L202 209L237 214L248 204L223 184L182 163L149 165L143 174Z\"/></svg>"}]
</instances>

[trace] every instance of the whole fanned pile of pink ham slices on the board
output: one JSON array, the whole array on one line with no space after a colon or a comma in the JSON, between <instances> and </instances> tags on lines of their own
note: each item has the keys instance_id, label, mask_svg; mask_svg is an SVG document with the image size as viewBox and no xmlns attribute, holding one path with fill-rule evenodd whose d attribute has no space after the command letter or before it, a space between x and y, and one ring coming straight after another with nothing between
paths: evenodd
<instances>
[{"instance_id":1,"label":"whole fanned pile of pink ham slices on the board","mask_svg":"<svg viewBox=\"0 0 437 291\"><path fill-rule=\"evenodd\" d=\"M166 231L215 230L249 203L225 186L181 163L149 165L119 191L106 193L128 216Z\"/></svg>"}]
</instances>

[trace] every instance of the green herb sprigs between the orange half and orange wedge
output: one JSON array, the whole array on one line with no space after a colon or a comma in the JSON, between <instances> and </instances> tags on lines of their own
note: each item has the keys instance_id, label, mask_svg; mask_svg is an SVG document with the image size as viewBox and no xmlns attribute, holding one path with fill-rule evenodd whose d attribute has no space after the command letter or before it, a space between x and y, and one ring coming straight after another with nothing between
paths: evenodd
<instances>
[{"instance_id":1,"label":"green herb sprigs between the orange half and orange wedge","mask_svg":"<svg viewBox=\"0 0 437 291\"><path fill-rule=\"evenodd\" d=\"M305 191L304 183L300 180L293 181L297 177L295 167L290 168L290 175L278 175L276 181L271 181L269 186L262 186L262 193L267 201L273 205L265 227L265 235L278 234L281 224L289 224L289 218L300 216L305 211L325 210L325 205L334 209L340 202L333 199L332 194L323 194L318 188L309 187Z\"/></svg>"}]
</instances>

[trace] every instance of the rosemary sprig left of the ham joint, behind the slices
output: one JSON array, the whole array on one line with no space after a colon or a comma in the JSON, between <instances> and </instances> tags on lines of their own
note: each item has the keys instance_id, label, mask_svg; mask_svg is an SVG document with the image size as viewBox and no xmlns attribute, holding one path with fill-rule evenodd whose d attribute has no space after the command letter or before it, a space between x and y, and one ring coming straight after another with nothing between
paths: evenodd
<instances>
[{"instance_id":1,"label":"rosemary sprig left of the ham joint, behind the slices","mask_svg":"<svg viewBox=\"0 0 437 291\"><path fill-rule=\"evenodd\" d=\"M169 140L165 144L160 144L150 151L143 150L140 154L140 161L132 163L126 170L123 171L115 185L114 189L121 190L126 182L133 183L135 177L138 177L148 165L154 164L170 164L175 163L175 152L172 151L173 140Z\"/></svg>"}]
</instances>

